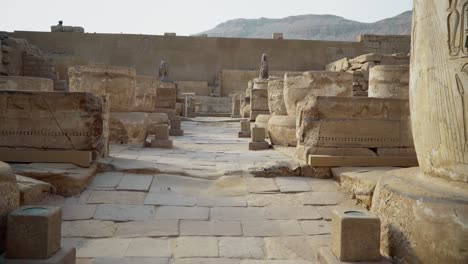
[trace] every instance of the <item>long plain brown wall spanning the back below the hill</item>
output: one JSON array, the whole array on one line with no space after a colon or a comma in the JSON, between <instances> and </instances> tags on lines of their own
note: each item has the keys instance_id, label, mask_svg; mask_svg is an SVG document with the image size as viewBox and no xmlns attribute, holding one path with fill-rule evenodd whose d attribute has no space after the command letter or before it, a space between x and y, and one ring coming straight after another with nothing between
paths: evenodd
<instances>
[{"instance_id":1,"label":"long plain brown wall spanning the back below the hill","mask_svg":"<svg viewBox=\"0 0 468 264\"><path fill-rule=\"evenodd\" d=\"M142 75L154 75L160 61L166 60L174 80L210 84L214 84L224 69L257 69L262 53L269 55L272 71L306 71L321 70L340 58L356 57L379 48L409 52L409 37L402 37L407 41L406 46L390 40L377 46L368 38L364 42L337 42L24 31L10 35L27 39L48 55L132 67ZM68 79L68 76L61 78Z\"/></svg>"}]
</instances>

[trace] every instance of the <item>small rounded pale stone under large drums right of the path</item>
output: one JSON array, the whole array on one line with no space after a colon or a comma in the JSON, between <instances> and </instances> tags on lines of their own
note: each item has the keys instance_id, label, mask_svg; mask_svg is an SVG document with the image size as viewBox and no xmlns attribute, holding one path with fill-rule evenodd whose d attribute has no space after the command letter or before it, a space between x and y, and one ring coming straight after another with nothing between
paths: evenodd
<instances>
[{"instance_id":1,"label":"small rounded pale stone under large drums right of the path","mask_svg":"<svg viewBox=\"0 0 468 264\"><path fill-rule=\"evenodd\" d=\"M296 117L272 116L268 121L268 135L273 145L295 147L297 145Z\"/></svg>"}]
</instances>

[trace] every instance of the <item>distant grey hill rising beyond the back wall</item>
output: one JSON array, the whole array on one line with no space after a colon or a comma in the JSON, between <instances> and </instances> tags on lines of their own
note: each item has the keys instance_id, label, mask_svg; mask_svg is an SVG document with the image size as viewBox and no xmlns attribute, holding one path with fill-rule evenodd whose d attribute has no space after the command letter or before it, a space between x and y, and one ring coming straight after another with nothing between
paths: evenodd
<instances>
[{"instance_id":1,"label":"distant grey hill rising beyond the back wall","mask_svg":"<svg viewBox=\"0 0 468 264\"><path fill-rule=\"evenodd\" d=\"M355 41L360 34L409 35L412 15L412 11L407 11L375 23L361 23L334 15L240 18L199 34L208 34L209 37L271 38L272 33L283 32L286 39Z\"/></svg>"}]
</instances>

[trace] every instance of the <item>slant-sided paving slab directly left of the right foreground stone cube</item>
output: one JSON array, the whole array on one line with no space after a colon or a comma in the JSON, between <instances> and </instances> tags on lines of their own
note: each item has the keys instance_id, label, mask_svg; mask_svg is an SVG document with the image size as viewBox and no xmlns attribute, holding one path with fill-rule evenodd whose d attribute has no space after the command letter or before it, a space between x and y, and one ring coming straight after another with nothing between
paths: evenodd
<instances>
[{"instance_id":1,"label":"slant-sided paving slab directly left of the right foreground stone cube","mask_svg":"<svg viewBox=\"0 0 468 264\"><path fill-rule=\"evenodd\" d=\"M266 237L267 259L300 259L315 262L315 255L306 237Z\"/></svg>"}]
</instances>

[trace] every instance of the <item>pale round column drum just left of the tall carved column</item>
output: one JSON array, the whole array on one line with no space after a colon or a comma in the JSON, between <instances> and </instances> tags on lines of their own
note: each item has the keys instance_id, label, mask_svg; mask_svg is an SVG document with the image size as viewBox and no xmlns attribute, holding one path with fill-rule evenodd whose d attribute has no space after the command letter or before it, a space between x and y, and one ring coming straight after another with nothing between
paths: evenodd
<instances>
[{"instance_id":1,"label":"pale round column drum just left of the tall carved column","mask_svg":"<svg viewBox=\"0 0 468 264\"><path fill-rule=\"evenodd\" d=\"M409 98L409 66L377 65L370 69L369 97Z\"/></svg>"}]
</instances>

